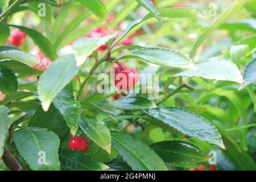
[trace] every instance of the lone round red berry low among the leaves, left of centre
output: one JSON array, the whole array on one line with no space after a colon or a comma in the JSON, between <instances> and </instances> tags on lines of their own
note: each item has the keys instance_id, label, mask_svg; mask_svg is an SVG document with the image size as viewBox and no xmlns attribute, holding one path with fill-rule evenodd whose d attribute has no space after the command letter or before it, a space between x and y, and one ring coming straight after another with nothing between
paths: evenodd
<instances>
[{"instance_id":1,"label":"lone round red berry low among the leaves, left of centre","mask_svg":"<svg viewBox=\"0 0 256 182\"><path fill-rule=\"evenodd\" d=\"M88 149L88 141L83 137L74 137L69 140L68 148L86 152Z\"/></svg>"}]
</instances>

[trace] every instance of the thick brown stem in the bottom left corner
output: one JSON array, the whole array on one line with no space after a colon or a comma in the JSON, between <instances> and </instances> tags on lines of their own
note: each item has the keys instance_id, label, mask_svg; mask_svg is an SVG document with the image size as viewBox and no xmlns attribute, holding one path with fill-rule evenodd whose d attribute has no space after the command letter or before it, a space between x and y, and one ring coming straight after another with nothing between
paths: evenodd
<instances>
[{"instance_id":1,"label":"thick brown stem in the bottom left corner","mask_svg":"<svg viewBox=\"0 0 256 182\"><path fill-rule=\"evenodd\" d=\"M14 158L13 154L11 154L11 152L6 146L4 147L3 151L3 162L12 171L22 170L22 166L20 166L18 161Z\"/></svg>"}]
</instances>

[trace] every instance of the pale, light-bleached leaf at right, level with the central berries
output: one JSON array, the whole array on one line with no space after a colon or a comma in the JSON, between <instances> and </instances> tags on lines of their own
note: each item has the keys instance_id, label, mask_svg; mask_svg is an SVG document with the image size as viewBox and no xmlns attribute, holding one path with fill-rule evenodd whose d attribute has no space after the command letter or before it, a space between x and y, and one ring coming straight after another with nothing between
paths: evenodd
<instances>
[{"instance_id":1,"label":"pale, light-bleached leaf at right, level with the central berries","mask_svg":"<svg viewBox=\"0 0 256 182\"><path fill-rule=\"evenodd\" d=\"M242 75L236 64L231 61L212 59L196 64L197 70L187 70L174 77L203 77L210 80L229 80L240 84L243 82Z\"/></svg>"}]
</instances>

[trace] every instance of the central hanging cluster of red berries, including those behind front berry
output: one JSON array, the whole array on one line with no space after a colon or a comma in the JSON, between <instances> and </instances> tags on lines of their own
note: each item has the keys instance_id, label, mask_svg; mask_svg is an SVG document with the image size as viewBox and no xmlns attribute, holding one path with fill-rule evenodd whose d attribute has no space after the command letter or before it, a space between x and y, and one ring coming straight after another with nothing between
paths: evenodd
<instances>
[{"instance_id":1,"label":"central hanging cluster of red berries, including those behind front berry","mask_svg":"<svg viewBox=\"0 0 256 182\"><path fill-rule=\"evenodd\" d=\"M122 96L127 96L129 90L138 82L139 74L134 68L127 69L126 64L119 64L113 67L115 71L115 86L119 89ZM119 94L114 96L114 99L121 97Z\"/></svg>"}]
</instances>

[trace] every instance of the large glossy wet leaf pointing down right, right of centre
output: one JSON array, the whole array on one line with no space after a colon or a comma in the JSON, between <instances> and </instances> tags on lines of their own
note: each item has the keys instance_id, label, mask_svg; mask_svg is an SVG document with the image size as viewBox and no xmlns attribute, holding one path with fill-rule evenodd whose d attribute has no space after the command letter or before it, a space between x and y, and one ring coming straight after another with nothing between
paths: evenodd
<instances>
[{"instance_id":1,"label":"large glossy wet leaf pointing down right, right of centre","mask_svg":"<svg viewBox=\"0 0 256 182\"><path fill-rule=\"evenodd\" d=\"M189 137L195 137L225 148L217 128L201 115L177 107L149 109L145 113L165 124L166 128L171 127Z\"/></svg>"}]
</instances>

